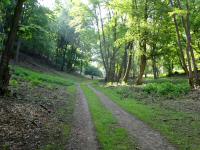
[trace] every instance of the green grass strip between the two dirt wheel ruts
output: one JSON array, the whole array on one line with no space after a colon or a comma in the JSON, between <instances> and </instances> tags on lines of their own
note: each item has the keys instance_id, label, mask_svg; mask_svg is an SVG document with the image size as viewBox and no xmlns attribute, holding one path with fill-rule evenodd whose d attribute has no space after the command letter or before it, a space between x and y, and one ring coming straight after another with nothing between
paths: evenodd
<instances>
[{"instance_id":1,"label":"green grass strip between the two dirt wheel ruts","mask_svg":"<svg viewBox=\"0 0 200 150\"><path fill-rule=\"evenodd\" d=\"M87 86L82 85L81 88L88 100L101 148L105 150L136 149L134 139L128 136L125 129L119 127L116 118L103 106L95 93Z\"/></svg>"}]
</instances>

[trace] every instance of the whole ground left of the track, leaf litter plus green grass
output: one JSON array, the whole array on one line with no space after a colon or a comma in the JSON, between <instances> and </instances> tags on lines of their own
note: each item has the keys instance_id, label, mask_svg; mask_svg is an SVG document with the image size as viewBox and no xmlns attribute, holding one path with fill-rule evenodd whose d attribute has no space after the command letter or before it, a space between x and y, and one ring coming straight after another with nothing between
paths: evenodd
<instances>
[{"instance_id":1,"label":"whole ground left of the track, leaf litter plus green grass","mask_svg":"<svg viewBox=\"0 0 200 150\"><path fill-rule=\"evenodd\" d=\"M12 95L0 97L0 149L64 149L76 86L52 72L13 68Z\"/></svg>"}]
</instances>

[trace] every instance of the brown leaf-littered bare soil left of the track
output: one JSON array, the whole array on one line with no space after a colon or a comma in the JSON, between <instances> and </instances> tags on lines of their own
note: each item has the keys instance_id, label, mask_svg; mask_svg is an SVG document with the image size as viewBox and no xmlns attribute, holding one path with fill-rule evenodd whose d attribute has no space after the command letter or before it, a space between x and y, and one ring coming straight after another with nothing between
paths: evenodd
<instances>
[{"instance_id":1,"label":"brown leaf-littered bare soil left of the track","mask_svg":"<svg viewBox=\"0 0 200 150\"><path fill-rule=\"evenodd\" d=\"M32 150L66 142L60 125L71 118L58 113L68 103L66 87L19 84L11 87L12 96L0 97L0 149Z\"/></svg>"}]
</instances>

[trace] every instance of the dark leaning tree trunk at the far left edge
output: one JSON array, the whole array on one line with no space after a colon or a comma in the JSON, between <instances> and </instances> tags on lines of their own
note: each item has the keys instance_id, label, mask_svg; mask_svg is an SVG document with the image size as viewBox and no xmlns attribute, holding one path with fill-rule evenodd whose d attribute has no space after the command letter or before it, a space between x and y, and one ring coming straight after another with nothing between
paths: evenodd
<instances>
[{"instance_id":1,"label":"dark leaning tree trunk at the far left edge","mask_svg":"<svg viewBox=\"0 0 200 150\"><path fill-rule=\"evenodd\" d=\"M22 14L23 3L24 0L17 1L10 26L10 32L5 44L5 49L2 53L0 62L0 95L5 95L8 92L8 85L10 80L9 61L12 57L12 48L15 42L20 16Z\"/></svg>"}]
</instances>

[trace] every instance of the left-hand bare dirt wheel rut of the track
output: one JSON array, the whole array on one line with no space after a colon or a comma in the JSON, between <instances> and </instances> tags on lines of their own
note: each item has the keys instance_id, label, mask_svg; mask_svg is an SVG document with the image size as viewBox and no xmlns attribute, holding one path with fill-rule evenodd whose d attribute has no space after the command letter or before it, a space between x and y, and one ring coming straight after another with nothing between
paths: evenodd
<instances>
[{"instance_id":1,"label":"left-hand bare dirt wheel rut of the track","mask_svg":"<svg viewBox=\"0 0 200 150\"><path fill-rule=\"evenodd\" d=\"M72 135L67 149L97 150L99 148L91 120L91 115L88 109L86 98L80 86L78 86L77 96Z\"/></svg>"}]
</instances>

